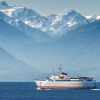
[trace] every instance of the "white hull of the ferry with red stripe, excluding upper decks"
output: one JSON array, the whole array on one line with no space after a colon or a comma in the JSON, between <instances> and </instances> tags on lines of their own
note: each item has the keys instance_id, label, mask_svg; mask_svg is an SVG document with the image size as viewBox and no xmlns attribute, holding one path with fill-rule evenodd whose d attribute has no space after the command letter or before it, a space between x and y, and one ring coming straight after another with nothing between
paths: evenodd
<instances>
[{"instance_id":1,"label":"white hull of the ferry with red stripe, excluding upper decks","mask_svg":"<svg viewBox=\"0 0 100 100\"><path fill-rule=\"evenodd\" d=\"M40 89L96 89L96 81L40 81L35 80Z\"/></svg>"}]
</instances>

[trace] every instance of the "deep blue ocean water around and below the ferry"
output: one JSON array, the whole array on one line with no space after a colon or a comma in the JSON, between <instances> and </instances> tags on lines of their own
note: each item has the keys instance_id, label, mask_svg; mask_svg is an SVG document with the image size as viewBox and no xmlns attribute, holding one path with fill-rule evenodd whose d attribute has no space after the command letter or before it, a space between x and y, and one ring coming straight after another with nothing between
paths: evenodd
<instances>
[{"instance_id":1,"label":"deep blue ocean water around and below the ferry","mask_svg":"<svg viewBox=\"0 0 100 100\"><path fill-rule=\"evenodd\" d=\"M0 100L100 100L96 90L37 90L34 82L1 82Z\"/></svg>"}]
</instances>

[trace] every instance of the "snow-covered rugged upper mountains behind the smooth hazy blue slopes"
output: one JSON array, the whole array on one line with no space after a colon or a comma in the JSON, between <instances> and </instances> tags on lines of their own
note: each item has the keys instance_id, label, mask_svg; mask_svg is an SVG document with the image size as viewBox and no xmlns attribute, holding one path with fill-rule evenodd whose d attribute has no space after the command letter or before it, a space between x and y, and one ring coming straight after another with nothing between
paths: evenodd
<instances>
[{"instance_id":1,"label":"snow-covered rugged upper mountains behind the smooth hazy blue slopes","mask_svg":"<svg viewBox=\"0 0 100 100\"><path fill-rule=\"evenodd\" d=\"M5 1L0 6L0 11L6 15L5 21L20 31L32 35L33 29L36 28L40 30L39 33L42 31L41 34L44 33L51 37L59 37L70 30L100 19L99 16L82 16L71 9L61 15L41 16L36 11L26 7L9 6Z\"/></svg>"}]
</instances>

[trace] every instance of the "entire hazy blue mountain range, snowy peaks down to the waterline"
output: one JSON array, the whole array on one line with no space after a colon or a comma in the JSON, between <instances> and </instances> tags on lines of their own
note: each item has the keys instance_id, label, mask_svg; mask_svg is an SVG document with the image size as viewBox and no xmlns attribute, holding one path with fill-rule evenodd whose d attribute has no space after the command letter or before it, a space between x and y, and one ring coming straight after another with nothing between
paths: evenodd
<instances>
[{"instance_id":1,"label":"entire hazy blue mountain range, snowy peaks down to the waterline","mask_svg":"<svg viewBox=\"0 0 100 100\"><path fill-rule=\"evenodd\" d=\"M71 9L42 16L0 1L0 81L33 81L60 64L70 75L99 81L99 19Z\"/></svg>"}]
</instances>

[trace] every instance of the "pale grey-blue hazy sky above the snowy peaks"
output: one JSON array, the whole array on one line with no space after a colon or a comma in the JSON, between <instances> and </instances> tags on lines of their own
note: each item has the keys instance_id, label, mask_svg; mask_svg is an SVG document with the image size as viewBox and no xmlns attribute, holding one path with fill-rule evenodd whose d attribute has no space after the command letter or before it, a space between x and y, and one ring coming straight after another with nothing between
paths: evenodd
<instances>
[{"instance_id":1,"label":"pale grey-blue hazy sky above the snowy peaks","mask_svg":"<svg viewBox=\"0 0 100 100\"><path fill-rule=\"evenodd\" d=\"M1 0L0 0L1 1ZM5 0L9 5L32 8L41 15L61 14L74 9L82 15L100 15L100 0Z\"/></svg>"}]
</instances>

